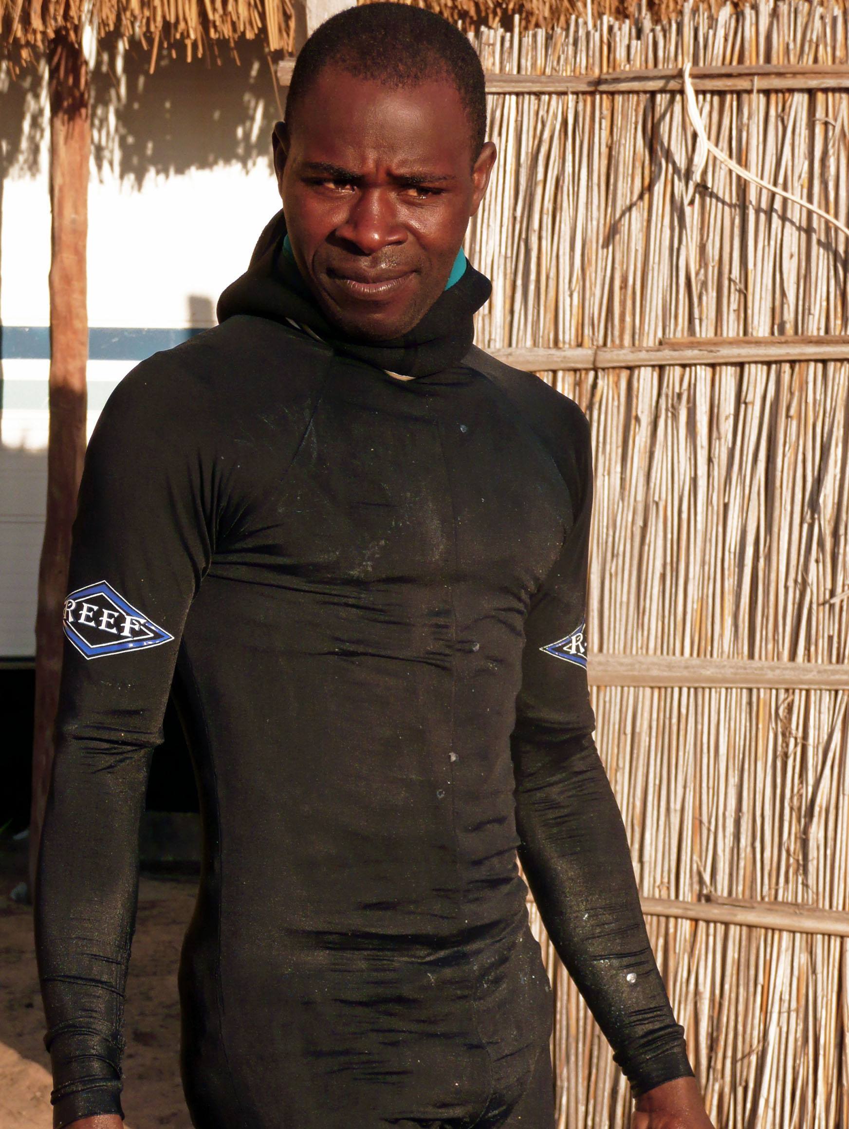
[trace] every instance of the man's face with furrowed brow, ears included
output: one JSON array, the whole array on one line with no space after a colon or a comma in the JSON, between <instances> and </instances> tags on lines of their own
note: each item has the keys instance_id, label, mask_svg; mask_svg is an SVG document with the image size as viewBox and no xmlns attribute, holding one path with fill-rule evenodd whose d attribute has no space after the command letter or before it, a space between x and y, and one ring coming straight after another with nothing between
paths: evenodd
<instances>
[{"instance_id":1,"label":"man's face with furrowed brow, ears included","mask_svg":"<svg viewBox=\"0 0 849 1129\"><path fill-rule=\"evenodd\" d=\"M274 167L295 260L329 321L370 341L412 329L445 289L496 149L472 163L449 78L393 89L325 67L278 123Z\"/></svg>"}]
</instances>

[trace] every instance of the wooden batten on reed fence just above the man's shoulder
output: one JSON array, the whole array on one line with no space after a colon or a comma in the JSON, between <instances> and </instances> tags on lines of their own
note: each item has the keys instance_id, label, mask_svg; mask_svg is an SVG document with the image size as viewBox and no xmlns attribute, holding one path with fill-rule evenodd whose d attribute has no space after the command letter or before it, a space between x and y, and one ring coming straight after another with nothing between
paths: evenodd
<instances>
[{"instance_id":1,"label":"wooden batten on reed fence just above the man's shoulder","mask_svg":"<svg viewBox=\"0 0 849 1129\"><path fill-rule=\"evenodd\" d=\"M699 343L697 343L699 342ZM657 365L772 365L796 360L849 360L849 335L823 338L685 338L657 345L577 345L571 349L490 349L527 373L557 369L641 368Z\"/></svg>"}]
</instances>

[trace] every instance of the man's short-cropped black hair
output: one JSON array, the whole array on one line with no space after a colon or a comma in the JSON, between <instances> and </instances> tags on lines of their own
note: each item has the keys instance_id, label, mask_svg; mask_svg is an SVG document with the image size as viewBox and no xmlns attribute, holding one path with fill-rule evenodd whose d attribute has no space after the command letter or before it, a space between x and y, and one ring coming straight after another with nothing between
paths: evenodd
<instances>
[{"instance_id":1,"label":"man's short-cropped black hair","mask_svg":"<svg viewBox=\"0 0 849 1129\"><path fill-rule=\"evenodd\" d=\"M286 102L288 122L331 64L393 87L415 86L435 75L449 78L469 117L472 158L478 159L487 138L483 68L465 35L443 16L406 3L367 3L331 16L295 60Z\"/></svg>"}]
</instances>

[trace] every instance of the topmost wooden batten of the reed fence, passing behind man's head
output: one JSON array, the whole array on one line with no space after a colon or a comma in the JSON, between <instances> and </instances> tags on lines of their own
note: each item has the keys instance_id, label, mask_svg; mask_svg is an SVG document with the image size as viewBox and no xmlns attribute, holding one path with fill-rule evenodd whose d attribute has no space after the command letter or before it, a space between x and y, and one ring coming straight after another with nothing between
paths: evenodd
<instances>
[{"instance_id":1,"label":"topmost wooden batten of the reed fence, passing behind man's head","mask_svg":"<svg viewBox=\"0 0 849 1129\"><path fill-rule=\"evenodd\" d=\"M295 60L277 64L277 80L289 85ZM616 70L603 75L509 75L487 72L488 94L677 94L684 89L680 67ZM849 90L849 67L781 65L693 67L695 90L767 93L769 90Z\"/></svg>"}]
</instances>

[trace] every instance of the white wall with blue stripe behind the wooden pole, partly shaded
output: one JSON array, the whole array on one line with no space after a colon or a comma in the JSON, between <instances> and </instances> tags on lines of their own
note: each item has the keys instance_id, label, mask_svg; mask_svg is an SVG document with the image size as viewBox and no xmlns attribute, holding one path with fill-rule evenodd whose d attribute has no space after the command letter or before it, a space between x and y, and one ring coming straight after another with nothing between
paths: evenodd
<instances>
[{"instance_id":1,"label":"white wall with blue stripe behind the wooden pole, partly shaded","mask_svg":"<svg viewBox=\"0 0 849 1129\"><path fill-rule=\"evenodd\" d=\"M215 324L279 208L270 152L279 117L259 47L242 65L102 55L88 233L89 431L108 393L175 331ZM105 72L119 73L115 84ZM0 657L34 654L47 441L50 200L37 76L0 84ZM28 332L23 332L28 330ZM166 335L104 333L163 330ZM112 359L98 359L104 342ZM43 351L43 350L42 350Z\"/></svg>"}]
</instances>

